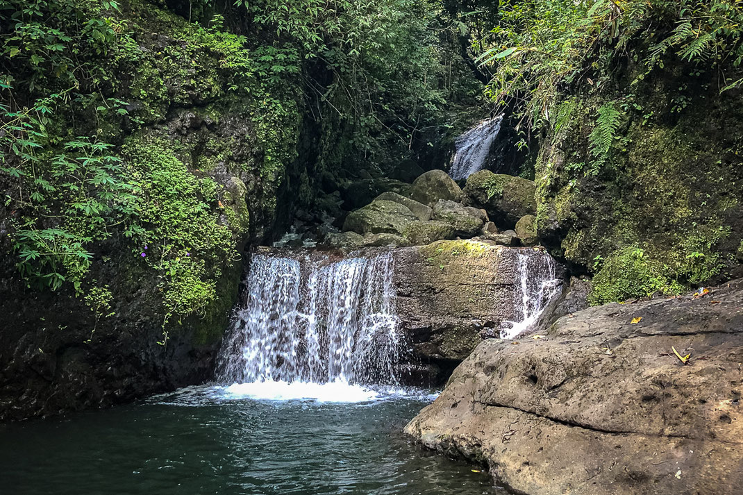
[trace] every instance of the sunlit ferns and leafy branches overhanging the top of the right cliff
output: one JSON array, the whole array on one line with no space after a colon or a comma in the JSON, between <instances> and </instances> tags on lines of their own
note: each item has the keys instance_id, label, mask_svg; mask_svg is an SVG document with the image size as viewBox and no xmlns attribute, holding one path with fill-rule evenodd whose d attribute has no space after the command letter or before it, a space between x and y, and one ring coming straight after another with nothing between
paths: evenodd
<instances>
[{"instance_id":1,"label":"sunlit ferns and leafy branches overhanging the top of the right cliff","mask_svg":"<svg viewBox=\"0 0 743 495\"><path fill-rule=\"evenodd\" d=\"M739 87L741 36L739 0L501 0L481 60L495 71L490 96L518 100L539 128L553 120L561 88L604 91L627 54L642 68L635 83L680 58L734 68L722 89Z\"/></svg>"}]
</instances>

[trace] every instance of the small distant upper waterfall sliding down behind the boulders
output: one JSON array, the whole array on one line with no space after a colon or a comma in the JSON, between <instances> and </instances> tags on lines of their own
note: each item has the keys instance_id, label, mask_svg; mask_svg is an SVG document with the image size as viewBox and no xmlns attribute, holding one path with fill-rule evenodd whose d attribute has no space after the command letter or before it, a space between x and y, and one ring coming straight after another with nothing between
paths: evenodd
<instances>
[{"instance_id":1,"label":"small distant upper waterfall sliding down behind the boulders","mask_svg":"<svg viewBox=\"0 0 743 495\"><path fill-rule=\"evenodd\" d=\"M449 175L455 180L466 179L484 166L490 146L498 138L503 116L483 120L455 140L456 154Z\"/></svg>"}]
</instances>

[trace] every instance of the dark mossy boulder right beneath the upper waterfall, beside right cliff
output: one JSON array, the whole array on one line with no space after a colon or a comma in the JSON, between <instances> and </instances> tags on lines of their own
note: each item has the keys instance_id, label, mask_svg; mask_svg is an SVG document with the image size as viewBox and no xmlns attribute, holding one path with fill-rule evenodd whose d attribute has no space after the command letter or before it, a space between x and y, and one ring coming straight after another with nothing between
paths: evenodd
<instances>
[{"instance_id":1,"label":"dark mossy boulder right beneath the upper waterfall, beside right cliff","mask_svg":"<svg viewBox=\"0 0 743 495\"><path fill-rule=\"evenodd\" d=\"M496 224L510 227L525 215L536 215L536 185L513 175L481 170L467 178L464 203L487 210Z\"/></svg>"}]
</instances>

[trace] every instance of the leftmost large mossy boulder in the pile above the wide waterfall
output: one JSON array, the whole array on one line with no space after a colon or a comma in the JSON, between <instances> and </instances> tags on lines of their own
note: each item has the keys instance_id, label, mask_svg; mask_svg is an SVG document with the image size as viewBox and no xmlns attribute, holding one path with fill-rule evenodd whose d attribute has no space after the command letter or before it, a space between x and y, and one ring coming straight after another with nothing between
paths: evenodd
<instances>
[{"instance_id":1,"label":"leftmost large mossy boulder in the pile above the wide waterfall","mask_svg":"<svg viewBox=\"0 0 743 495\"><path fill-rule=\"evenodd\" d=\"M359 210L348 213L343 230L366 233L392 233L401 235L406 227L418 221L408 207L395 201L372 201Z\"/></svg>"}]
</instances>

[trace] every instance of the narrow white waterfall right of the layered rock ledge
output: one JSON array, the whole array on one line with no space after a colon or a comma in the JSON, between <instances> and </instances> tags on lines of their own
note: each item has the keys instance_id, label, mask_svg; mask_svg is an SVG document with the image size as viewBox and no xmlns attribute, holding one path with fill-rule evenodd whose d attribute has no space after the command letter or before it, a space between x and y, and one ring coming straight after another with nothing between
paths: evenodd
<instances>
[{"instance_id":1,"label":"narrow white waterfall right of the layered rock ledge","mask_svg":"<svg viewBox=\"0 0 743 495\"><path fill-rule=\"evenodd\" d=\"M557 263L544 250L516 250L516 274L519 277L513 294L516 320L505 323L501 331L505 339L530 329L562 285Z\"/></svg>"}]
</instances>

